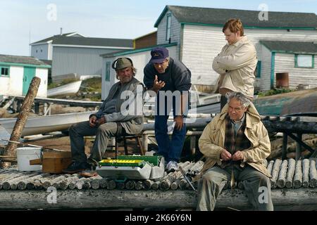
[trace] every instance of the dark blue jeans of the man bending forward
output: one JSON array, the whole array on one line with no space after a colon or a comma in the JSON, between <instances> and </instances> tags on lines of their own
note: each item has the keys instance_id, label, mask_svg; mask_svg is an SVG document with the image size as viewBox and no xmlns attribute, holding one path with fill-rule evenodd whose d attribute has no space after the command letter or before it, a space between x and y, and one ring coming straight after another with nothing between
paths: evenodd
<instances>
[{"instance_id":1,"label":"dark blue jeans of the man bending forward","mask_svg":"<svg viewBox=\"0 0 317 225\"><path fill-rule=\"evenodd\" d=\"M159 98L157 98L156 101L158 102ZM159 105L157 105L157 108L159 108ZM159 109L157 112L159 112ZM169 113L170 109L168 110L168 107L166 107L163 115L159 115L159 113L158 115L155 115L155 138L159 146L159 155L163 155L166 162L178 162L180 160L180 154L182 153L182 147L185 141L186 126L184 123L182 129L178 130L174 128L172 139L170 140L167 125ZM173 114L175 118L175 101L173 101Z\"/></svg>"}]
</instances>

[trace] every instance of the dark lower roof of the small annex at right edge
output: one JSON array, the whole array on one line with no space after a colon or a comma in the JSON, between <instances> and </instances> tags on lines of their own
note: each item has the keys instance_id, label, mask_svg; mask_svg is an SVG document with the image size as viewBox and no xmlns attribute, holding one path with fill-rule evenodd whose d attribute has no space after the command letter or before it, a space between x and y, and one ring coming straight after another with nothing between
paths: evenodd
<instances>
[{"instance_id":1,"label":"dark lower roof of the small annex at right edge","mask_svg":"<svg viewBox=\"0 0 317 225\"><path fill-rule=\"evenodd\" d=\"M270 51L279 53L317 53L317 44L304 41L260 41Z\"/></svg>"}]
</instances>

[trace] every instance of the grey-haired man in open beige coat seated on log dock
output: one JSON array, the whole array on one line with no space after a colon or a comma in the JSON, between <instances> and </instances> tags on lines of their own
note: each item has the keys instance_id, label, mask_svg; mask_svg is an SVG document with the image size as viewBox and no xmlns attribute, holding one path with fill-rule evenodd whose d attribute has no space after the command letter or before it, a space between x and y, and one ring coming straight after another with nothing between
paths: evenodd
<instances>
[{"instance_id":1,"label":"grey-haired man in open beige coat seated on log dock","mask_svg":"<svg viewBox=\"0 0 317 225\"><path fill-rule=\"evenodd\" d=\"M264 165L271 153L268 131L254 105L239 92L205 127L199 149L206 157L198 183L197 210L213 210L226 182L242 182L254 210L273 210L271 181Z\"/></svg>"}]
</instances>

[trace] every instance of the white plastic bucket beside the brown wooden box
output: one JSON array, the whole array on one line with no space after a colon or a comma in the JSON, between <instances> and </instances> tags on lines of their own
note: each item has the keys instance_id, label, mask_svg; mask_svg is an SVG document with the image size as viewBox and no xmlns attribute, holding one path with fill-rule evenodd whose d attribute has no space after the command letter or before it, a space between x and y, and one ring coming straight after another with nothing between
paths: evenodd
<instances>
[{"instance_id":1,"label":"white plastic bucket beside the brown wooden box","mask_svg":"<svg viewBox=\"0 0 317 225\"><path fill-rule=\"evenodd\" d=\"M30 160L41 158L42 148L25 147L16 148L16 158L18 160L18 170L36 171L42 170L42 165L30 165Z\"/></svg>"}]
</instances>

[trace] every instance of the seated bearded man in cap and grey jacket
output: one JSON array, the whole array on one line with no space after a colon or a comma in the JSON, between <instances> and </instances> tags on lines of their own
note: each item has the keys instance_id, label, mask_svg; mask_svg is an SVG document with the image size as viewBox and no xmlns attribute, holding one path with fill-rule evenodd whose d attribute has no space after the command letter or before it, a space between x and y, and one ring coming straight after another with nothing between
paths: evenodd
<instances>
[{"instance_id":1,"label":"seated bearded man in cap and grey jacket","mask_svg":"<svg viewBox=\"0 0 317 225\"><path fill-rule=\"evenodd\" d=\"M143 85L135 79L136 69L130 58L118 58L112 64L119 82L113 84L108 97L89 121L73 124L69 129L73 162L63 172L76 173L96 167L111 136L138 134L143 128ZM85 154L84 136L96 136L91 155Z\"/></svg>"}]
</instances>

